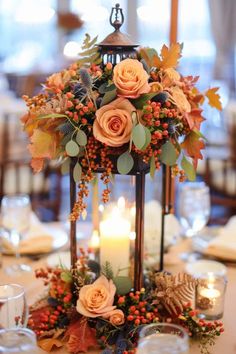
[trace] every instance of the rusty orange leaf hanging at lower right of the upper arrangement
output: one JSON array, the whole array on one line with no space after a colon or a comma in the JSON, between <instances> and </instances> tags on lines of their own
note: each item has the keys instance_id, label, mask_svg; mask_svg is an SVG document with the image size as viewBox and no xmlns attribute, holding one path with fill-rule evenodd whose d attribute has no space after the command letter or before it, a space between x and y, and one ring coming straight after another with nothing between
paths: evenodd
<instances>
[{"instance_id":1,"label":"rusty orange leaf hanging at lower right of the upper arrangement","mask_svg":"<svg viewBox=\"0 0 236 354\"><path fill-rule=\"evenodd\" d=\"M195 131L191 131L190 134L185 137L181 147L186 151L187 155L193 159L193 165L197 168L198 159L203 159L201 150L205 148L204 141L200 139Z\"/></svg>"}]
</instances>

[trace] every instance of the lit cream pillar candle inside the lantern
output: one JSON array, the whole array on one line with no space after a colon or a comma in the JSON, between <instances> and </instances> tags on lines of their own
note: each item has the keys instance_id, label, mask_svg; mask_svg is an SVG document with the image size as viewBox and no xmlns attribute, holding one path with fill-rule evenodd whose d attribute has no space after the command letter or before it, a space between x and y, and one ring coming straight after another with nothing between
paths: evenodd
<instances>
[{"instance_id":1,"label":"lit cream pillar candle inside the lantern","mask_svg":"<svg viewBox=\"0 0 236 354\"><path fill-rule=\"evenodd\" d=\"M130 222L121 216L118 208L100 223L100 263L109 262L114 275L119 269L122 269L121 275L129 273L129 234Z\"/></svg>"}]
</instances>

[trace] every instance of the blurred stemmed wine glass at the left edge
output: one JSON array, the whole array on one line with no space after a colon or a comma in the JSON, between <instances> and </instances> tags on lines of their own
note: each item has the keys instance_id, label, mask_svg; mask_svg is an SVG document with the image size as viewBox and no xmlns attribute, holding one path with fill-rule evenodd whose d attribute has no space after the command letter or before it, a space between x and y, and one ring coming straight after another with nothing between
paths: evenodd
<instances>
[{"instance_id":1,"label":"blurred stemmed wine glass at the left edge","mask_svg":"<svg viewBox=\"0 0 236 354\"><path fill-rule=\"evenodd\" d=\"M10 241L14 246L15 256L18 260L17 264L6 269L9 274L31 270L30 266L20 264L19 262L19 244L29 229L30 213L31 204L27 194L15 194L3 197L1 204L2 226L9 232Z\"/></svg>"}]
</instances>

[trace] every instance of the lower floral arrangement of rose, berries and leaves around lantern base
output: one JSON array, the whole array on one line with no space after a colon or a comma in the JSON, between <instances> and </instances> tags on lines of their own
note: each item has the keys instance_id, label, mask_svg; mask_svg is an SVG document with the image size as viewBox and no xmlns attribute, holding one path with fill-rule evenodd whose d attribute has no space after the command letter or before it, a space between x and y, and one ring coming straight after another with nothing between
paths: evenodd
<instances>
[{"instance_id":1,"label":"lower floral arrangement of rose, berries and leaves around lantern base","mask_svg":"<svg viewBox=\"0 0 236 354\"><path fill-rule=\"evenodd\" d=\"M48 352L65 345L73 354L92 348L132 354L140 329L164 321L183 326L207 354L224 331L222 322L199 319L191 308L198 280L187 274L151 272L145 288L133 291L128 277L114 275L109 264L100 268L81 250L75 269L39 269L36 277L47 292L31 308L28 327Z\"/></svg>"}]
</instances>

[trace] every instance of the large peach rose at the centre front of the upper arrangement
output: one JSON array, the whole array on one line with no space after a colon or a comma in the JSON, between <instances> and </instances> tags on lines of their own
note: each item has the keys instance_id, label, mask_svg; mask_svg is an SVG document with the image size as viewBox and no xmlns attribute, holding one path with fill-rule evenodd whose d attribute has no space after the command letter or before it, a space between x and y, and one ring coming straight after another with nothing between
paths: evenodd
<instances>
[{"instance_id":1,"label":"large peach rose at the centre front of the upper arrangement","mask_svg":"<svg viewBox=\"0 0 236 354\"><path fill-rule=\"evenodd\" d=\"M94 137L108 146L121 146L130 140L134 106L124 98L99 108L93 124Z\"/></svg>"}]
</instances>

